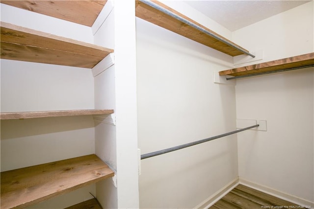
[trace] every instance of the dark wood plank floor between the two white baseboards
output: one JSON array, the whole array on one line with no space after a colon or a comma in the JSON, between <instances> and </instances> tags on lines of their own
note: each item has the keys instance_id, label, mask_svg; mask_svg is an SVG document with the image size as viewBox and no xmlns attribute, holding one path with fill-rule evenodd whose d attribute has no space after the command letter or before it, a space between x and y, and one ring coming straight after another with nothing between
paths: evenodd
<instances>
[{"instance_id":1,"label":"dark wood plank floor between the two white baseboards","mask_svg":"<svg viewBox=\"0 0 314 209\"><path fill-rule=\"evenodd\" d=\"M244 185L237 185L209 209L284 209L297 206Z\"/></svg>"}]
</instances>

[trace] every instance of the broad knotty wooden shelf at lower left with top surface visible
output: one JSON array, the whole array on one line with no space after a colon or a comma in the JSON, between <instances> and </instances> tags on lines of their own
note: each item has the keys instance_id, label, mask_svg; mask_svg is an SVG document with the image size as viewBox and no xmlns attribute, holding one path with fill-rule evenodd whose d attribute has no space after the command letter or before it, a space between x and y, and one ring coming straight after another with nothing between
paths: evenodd
<instances>
[{"instance_id":1,"label":"broad knotty wooden shelf at lower left with top surface visible","mask_svg":"<svg viewBox=\"0 0 314 209\"><path fill-rule=\"evenodd\" d=\"M113 176L96 155L1 172L0 206L25 208Z\"/></svg>"}]
</instances>

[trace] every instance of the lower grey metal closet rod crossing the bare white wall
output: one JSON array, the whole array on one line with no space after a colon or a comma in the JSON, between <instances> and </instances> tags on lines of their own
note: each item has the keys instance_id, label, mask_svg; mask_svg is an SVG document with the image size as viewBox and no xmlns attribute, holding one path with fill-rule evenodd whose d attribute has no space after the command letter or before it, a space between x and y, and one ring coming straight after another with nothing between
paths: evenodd
<instances>
[{"instance_id":1,"label":"lower grey metal closet rod crossing the bare white wall","mask_svg":"<svg viewBox=\"0 0 314 209\"><path fill-rule=\"evenodd\" d=\"M253 128L256 128L256 127L259 127L259 126L260 125L257 124L257 125L246 127L246 128L239 129L239 130L236 130L236 131L231 131L231 132L228 132L228 133L212 136L212 137L209 137L209 138L206 138L206 139L201 139L201 140L198 140L198 141L194 141L194 142L190 142L190 143L187 143L187 144L179 145L179 146L176 146L176 147L171 147L171 148L168 148L168 149L164 149L164 150L159 150L159 151L152 152L152 153L143 154L143 155L141 155L141 159L146 159L146 158L149 158L149 157L154 157L154 156L162 155L162 154L165 154L165 153L170 153L170 152L173 152L173 151L176 151L176 150L181 150L181 149L186 148L186 147L190 147L190 146L194 146L194 145L201 144L201 143L204 143L204 142L208 142L208 141L211 141L211 140L214 140L214 139L218 139L218 138L221 138L221 137L224 137L224 136L228 136L228 135L231 135L231 134L234 134L234 133L238 133L238 132L241 132L241 131L245 131L245 130L248 130L248 129L253 129Z\"/></svg>"}]
</instances>

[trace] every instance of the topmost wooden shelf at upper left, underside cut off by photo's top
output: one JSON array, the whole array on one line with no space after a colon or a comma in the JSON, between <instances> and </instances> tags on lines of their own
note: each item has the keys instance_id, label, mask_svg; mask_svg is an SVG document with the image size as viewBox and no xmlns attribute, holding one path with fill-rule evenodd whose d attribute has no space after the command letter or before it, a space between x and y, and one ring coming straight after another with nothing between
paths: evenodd
<instances>
[{"instance_id":1,"label":"topmost wooden shelf at upper left, underside cut off by photo's top","mask_svg":"<svg viewBox=\"0 0 314 209\"><path fill-rule=\"evenodd\" d=\"M92 26L106 0L1 0L1 3L80 25Z\"/></svg>"}]
</instances>

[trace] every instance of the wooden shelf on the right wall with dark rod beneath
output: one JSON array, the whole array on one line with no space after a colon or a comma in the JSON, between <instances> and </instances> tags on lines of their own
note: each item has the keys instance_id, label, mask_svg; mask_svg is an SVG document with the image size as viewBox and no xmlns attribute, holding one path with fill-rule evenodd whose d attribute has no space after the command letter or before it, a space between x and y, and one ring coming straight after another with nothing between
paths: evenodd
<instances>
[{"instance_id":1,"label":"wooden shelf on the right wall with dark rod beneath","mask_svg":"<svg viewBox=\"0 0 314 209\"><path fill-rule=\"evenodd\" d=\"M249 65L240 68L220 71L220 76L246 76L264 72L275 72L279 70L287 70L296 67L305 67L314 65L314 52L292 56L284 59L263 62L260 64Z\"/></svg>"}]
</instances>

